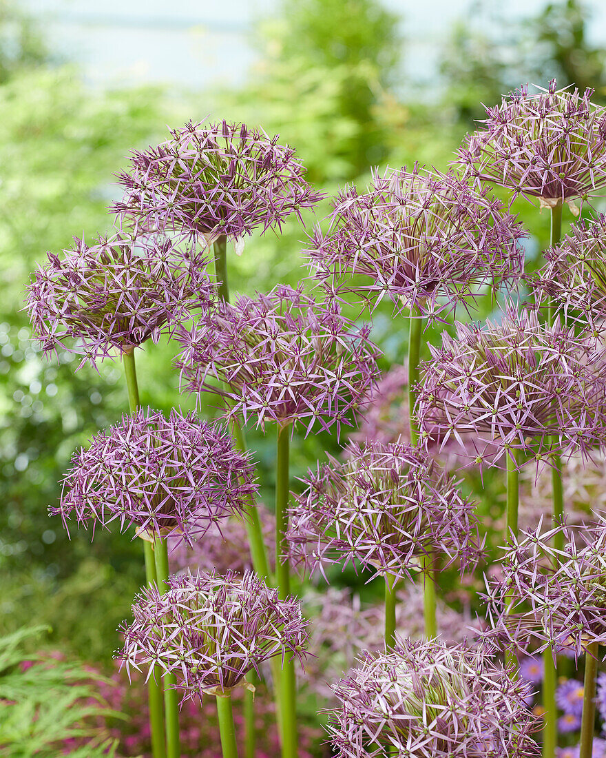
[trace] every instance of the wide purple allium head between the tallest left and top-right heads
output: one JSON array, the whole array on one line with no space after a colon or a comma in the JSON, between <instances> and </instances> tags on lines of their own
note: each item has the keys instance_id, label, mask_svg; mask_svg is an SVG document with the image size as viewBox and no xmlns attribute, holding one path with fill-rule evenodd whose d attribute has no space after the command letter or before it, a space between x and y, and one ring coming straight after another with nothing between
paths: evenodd
<instances>
[{"instance_id":1,"label":"wide purple allium head between the tallest left and top-right heads","mask_svg":"<svg viewBox=\"0 0 606 758\"><path fill-rule=\"evenodd\" d=\"M319 228L311 236L311 267L327 287L373 307L389 297L433 320L467 308L482 284L523 271L520 224L452 172L375 172L366 194L348 187L334 206L326 236Z\"/></svg>"}]
</instances>

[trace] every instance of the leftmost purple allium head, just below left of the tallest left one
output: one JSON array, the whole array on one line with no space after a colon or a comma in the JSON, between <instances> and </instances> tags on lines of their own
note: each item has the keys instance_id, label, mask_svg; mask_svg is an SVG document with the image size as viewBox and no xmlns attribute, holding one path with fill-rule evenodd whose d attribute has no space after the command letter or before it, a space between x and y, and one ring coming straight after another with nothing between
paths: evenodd
<instances>
[{"instance_id":1,"label":"leftmost purple allium head, just below left of the tallest left one","mask_svg":"<svg viewBox=\"0 0 606 758\"><path fill-rule=\"evenodd\" d=\"M64 252L36 271L27 309L42 348L82 355L80 365L157 342L214 296L206 259L172 240L120 232Z\"/></svg>"}]
</instances>

